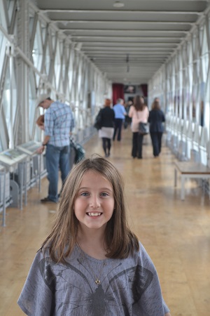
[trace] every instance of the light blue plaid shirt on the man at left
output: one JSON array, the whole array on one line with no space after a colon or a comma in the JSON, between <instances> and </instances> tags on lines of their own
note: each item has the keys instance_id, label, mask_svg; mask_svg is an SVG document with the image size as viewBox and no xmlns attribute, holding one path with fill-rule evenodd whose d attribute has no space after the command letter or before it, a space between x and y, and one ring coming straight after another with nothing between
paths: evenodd
<instances>
[{"instance_id":1,"label":"light blue plaid shirt on the man at left","mask_svg":"<svg viewBox=\"0 0 210 316\"><path fill-rule=\"evenodd\" d=\"M55 147L69 145L73 127L74 119L70 106L59 101L51 103L45 112L45 136L50 136L48 144Z\"/></svg>"}]
</instances>

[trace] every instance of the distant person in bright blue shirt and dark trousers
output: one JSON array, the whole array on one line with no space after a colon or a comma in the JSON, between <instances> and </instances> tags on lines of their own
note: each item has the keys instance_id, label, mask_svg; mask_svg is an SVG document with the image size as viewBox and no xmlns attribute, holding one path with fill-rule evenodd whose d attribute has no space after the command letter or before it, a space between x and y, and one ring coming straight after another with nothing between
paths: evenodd
<instances>
[{"instance_id":1,"label":"distant person in bright blue shirt and dark trousers","mask_svg":"<svg viewBox=\"0 0 210 316\"><path fill-rule=\"evenodd\" d=\"M125 107L123 105L124 100L118 98L117 104L114 105L113 110L115 112L115 129L113 133L113 140L116 138L116 134L118 133L118 141L121 140L121 131L123 126L123 120L125 119L125 115L127 115L125 111Z\"/></svg>"}]
</instances>

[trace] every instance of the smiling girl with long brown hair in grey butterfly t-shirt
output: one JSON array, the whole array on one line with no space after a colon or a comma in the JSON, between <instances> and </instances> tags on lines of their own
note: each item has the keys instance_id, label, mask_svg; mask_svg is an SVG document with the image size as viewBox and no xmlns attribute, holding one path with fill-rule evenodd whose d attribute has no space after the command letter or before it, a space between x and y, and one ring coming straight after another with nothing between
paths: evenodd
<instances>
[{"instance_id":1,"label":"smiling girl with long brown hair in grey butterfly t-shirt","mask_svg":"<svg viewBox=\"0 0 210 316\"><path fill-rule=\"evenodd\" d=\"M123 187L100 156L74 166L18 300L27 315L170 315L153 262L127 225Z\"/></svg>"}]
</instances>

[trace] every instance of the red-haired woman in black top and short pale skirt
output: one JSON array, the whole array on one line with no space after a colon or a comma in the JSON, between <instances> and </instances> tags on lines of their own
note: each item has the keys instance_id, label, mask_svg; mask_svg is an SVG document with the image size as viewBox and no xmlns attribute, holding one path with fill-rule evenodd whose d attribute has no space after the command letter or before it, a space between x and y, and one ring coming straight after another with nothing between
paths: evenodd
<instances>
[{"instance_id":1,"label":"red-haired woman in black top and short pale skirt","mask_svg":"<svg viewBox=\"0 0 210 316\"><path fill-rule=\"evenodd\" d=\"M101 118L102 128L99 129L99 137L102 138L102 147L105 157L109 157L115 123L115 112L111 109L110 99L105 99L104 108L101 110Z\"/></svg>"}]
</instances>

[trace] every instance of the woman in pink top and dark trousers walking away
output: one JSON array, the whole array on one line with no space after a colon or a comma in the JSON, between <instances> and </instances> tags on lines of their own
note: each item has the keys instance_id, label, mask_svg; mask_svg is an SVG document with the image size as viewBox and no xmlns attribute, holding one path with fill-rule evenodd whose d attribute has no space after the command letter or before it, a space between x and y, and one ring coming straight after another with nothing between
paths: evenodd
<instances>
[{"instance_id":1,"label":"woman in pink top and dark trousers walking away","mask_svg":"<svg viewBox=\"0 0 210 316\"><path fill-rule=\"evenodd\" d=\"M128 116L132 118L132 157L142 159L142 143L144 135L139 134L139 121L148 121L148 107L144 104L144 98L135 96L134 105L130 107Z\"/></svg>"}]
</instances>

